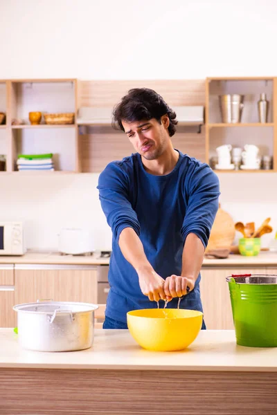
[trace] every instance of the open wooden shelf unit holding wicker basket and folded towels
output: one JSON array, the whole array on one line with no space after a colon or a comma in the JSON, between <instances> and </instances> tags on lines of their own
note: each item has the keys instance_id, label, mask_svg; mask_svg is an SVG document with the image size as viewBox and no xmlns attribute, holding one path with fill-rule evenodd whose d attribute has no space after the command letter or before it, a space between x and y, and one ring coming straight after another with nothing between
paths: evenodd
<instances>
[{"instance_id":1,"label":"open wooden shelf unit holding wicker basket and folded towels","mask_svg":"<svg viewBox=\"0 0 277 415\"><path fill-rule=\"evenodd\" d=\"M78 172L78 125L77 80L6 80L6 172L16 174L64 174ZM0 104L3 102L3 89L0 81ZM0 111L3 111L0 107ZM30 124L28 113L42 112L40 124ZM75 114L74 124L45 124L44 113ZM12 120L23 120L24 124L12 124ZM18 154L53 153L54 172L17 172Z\"/></svg>"}]
</instances>

